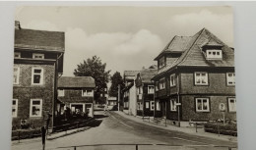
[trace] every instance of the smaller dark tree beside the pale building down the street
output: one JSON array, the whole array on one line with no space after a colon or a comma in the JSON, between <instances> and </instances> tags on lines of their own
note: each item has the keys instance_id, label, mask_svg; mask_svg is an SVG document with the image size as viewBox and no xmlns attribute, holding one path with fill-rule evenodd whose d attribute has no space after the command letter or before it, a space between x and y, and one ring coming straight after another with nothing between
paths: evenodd
<instances>
[{"instance_id":1,"label":"smaller dark tree beside the pale building down the street","mask_svg":"<svg viewBox=\"0 0 256 150\"><path fill-rule=\"evenodd\" d=\"M109 88L108 94L112 97L118 97L118 84L120 84L120 90L124 88L123 78L119 72L116 72L111 76L111 86Z\"/></svg>"}]
</instances>

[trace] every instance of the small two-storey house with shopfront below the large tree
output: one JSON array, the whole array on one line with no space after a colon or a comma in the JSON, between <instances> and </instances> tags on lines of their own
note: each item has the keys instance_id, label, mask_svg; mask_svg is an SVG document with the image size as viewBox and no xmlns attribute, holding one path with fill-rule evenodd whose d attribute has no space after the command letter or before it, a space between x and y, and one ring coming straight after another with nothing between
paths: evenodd
<instances>
[{"instance_id":1,"label":"small two-storey house with shopfront below the large tree","mask_svg":"<svg viewBox=\"0 0 256 150\"><path fill-rule=\"evenodd\" d=\"M69 108L72 115L88 114L94 117L95 79L91 76L61 76L58 79L57 111L63 115Z\"/></svg>"}]
</instances>

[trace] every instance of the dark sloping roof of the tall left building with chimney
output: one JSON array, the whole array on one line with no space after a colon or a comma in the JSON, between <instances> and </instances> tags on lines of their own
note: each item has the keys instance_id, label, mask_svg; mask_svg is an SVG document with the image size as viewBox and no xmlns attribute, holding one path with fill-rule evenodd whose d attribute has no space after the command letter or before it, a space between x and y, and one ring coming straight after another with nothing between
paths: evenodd
<instances>
[{"instance_id":1,"label":"dark sloping roof of the tall left building with chimney","mask_svg":"<svg viewBox=\"0 0 256 150\"><path fill-rule=\"evenodd\" d=\"M15 29L15 48L64 52L64 42L64 32Z\"/></svg>"}]
</instances>

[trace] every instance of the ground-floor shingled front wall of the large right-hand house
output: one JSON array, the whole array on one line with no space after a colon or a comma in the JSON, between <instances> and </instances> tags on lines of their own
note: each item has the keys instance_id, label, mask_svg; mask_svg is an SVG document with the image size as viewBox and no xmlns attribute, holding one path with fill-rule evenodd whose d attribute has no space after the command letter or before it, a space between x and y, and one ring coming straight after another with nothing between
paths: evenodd
<instances>
[{"instance_id":1,"label":"ground-floor shingled front wall of the large right-hand house","mask_svg":"<svg viewBox=\"0 0 256 150\"><path fill-rule=\"evenodd\" d=\"M210 112L196 112L197 97L208 97L210 99ZM228 112L227 98L233 96L211 96L211 95L182 95L181 96L181 120L182 121L209 121L223 119L223 113L219 110L220 103L225 105L225 119L235 120L236 113Z\"/></svg>"}]
</instances>

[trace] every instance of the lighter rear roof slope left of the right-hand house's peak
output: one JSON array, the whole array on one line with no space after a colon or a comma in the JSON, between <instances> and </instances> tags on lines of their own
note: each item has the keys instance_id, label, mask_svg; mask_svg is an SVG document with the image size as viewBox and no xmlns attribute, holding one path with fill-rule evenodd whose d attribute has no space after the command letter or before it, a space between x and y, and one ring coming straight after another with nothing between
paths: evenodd
<instances>
[{"instance_id":1,"label":"lighter rear roof slope left of the right-hand house's peak","mask_svg":"<svg viewBox=\"0 0 256 150\"><path fill-rule=\"evenodd\" d=\"M155 61L159 59L164 53L181 53L187 48L188 42L191 40L191 36L174 36L170 42L160 52L160 55L155 58Z\"/></svg>"}]
</instances>

